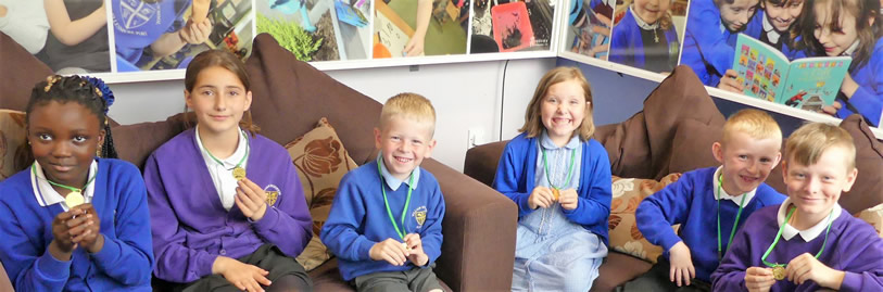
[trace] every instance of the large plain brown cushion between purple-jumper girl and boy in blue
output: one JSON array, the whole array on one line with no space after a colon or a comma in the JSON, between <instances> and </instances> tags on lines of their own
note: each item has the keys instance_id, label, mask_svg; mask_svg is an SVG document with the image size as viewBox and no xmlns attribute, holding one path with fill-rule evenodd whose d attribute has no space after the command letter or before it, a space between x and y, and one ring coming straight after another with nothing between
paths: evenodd
<instances>
[{"instance_id":1,"label":"large plain brown cushion between purple-jumper girl and boy in blue","mask_svg":"<svg viewBox=\"0 0 883 292\"><path fill-rule=\"evenodd\" d=\"M333 125L348 125L338 136L357 164L375 157L373 128L380 118L379 102L298 61L268 34L255 37L253 48L245 68L253 120L264 136L285 144L327 117Z\"/></svg>"}]
</instances>

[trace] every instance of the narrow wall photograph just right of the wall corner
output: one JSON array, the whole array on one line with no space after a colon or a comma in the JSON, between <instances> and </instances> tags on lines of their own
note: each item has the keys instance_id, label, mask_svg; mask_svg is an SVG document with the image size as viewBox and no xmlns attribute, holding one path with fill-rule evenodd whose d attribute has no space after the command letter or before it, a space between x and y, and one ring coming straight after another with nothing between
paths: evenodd
<instances>
[{"instance_id":1,"label":"narrow wall photograph just right of the wall corner","mask_svg":"<svg viewBox=\"0 0 883 292\"><path fill-rule=\"evenodd\" d=\"M616 0L569 0L567 50L607 60Z\"/></svg>"}]
</instances>

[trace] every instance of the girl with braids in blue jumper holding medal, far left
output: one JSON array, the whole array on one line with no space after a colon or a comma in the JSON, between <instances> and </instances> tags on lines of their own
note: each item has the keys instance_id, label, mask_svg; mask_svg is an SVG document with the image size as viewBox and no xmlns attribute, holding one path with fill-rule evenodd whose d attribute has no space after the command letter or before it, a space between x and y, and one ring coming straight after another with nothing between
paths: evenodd
<instances>
[{"instance_id":1,"label":"girl with braids in blue jumper holding medal, far left","mask_svg":"<svg viewBox=\"0 0 883 292\"><path fill-rule=\"evenodd\" d=\"M96 78L50 76L31 91L35 162L0 182L0 261L18 291L151 291L147 192L113 158L111 103Z\"/></svg>"}]
</instances>

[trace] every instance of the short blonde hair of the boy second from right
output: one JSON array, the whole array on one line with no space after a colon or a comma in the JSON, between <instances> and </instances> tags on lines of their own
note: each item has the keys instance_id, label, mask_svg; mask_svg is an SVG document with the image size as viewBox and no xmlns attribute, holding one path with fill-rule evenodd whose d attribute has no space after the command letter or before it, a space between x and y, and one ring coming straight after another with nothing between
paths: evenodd
<instances>
[{"instance_id":1,"label":"short blonde hair of the boy second from right","mask_svg":"<svg viewBox=\"0 0 883 292\"><path fill-rule=\"evenodd\" d=\"M745 109L731 115L723 124L723 139L722 144L727 144L732 136L736 132L747 134L757 140L774 139L782 142L782 129L779 128L779 123L767 114L767 112Z\"/></svg>"}]
</instances>

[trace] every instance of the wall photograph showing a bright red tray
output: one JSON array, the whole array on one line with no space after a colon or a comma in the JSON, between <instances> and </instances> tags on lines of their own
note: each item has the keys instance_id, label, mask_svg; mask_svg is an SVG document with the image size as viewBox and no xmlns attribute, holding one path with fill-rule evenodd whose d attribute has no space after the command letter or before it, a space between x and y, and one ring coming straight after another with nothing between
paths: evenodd
<instances>
[{"instance_id":1,"label":"wall photograph showing a bright red tray","mask_svg":"<svg viewBox=\"0 0 883 292\"><path fill-rule=\"evenodd\" d=\"M474 1L469 53L550 50L555 0Z\"/></svg>"}]
</instances>

